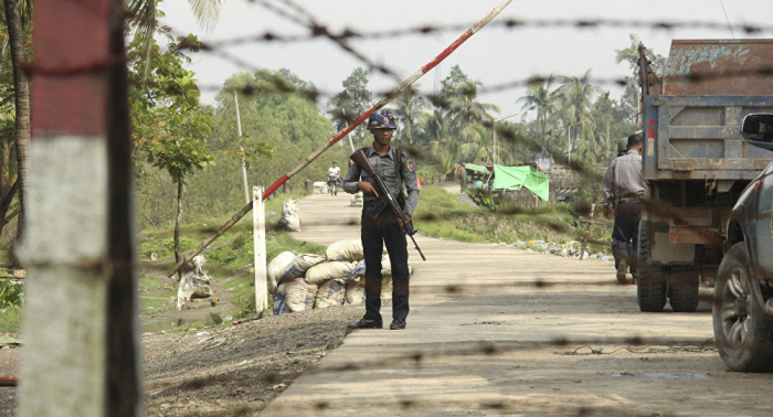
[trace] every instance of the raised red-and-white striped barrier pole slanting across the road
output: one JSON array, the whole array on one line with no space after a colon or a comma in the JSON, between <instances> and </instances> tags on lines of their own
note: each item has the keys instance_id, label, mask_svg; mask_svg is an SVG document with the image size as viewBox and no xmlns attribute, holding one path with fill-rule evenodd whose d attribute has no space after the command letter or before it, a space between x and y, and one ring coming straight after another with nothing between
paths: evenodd
<instances>
[{"instance_id":1,"label":"raised red-and-white striped barrier pole slanting across the road","mask_svg":"<svg viewBox=\"0 0 773 417\"><path fill-rule=\"evenodd\" d=\"M271 195L273 192L279 189L282 184L287 182L290 178L295 177L298 172L300 172L304 168L306 168L309 163L311 163L317 157L322 154L328 148L331 146L336 145L341 138L345 138L349 132L354 130L362 121L364 121L370 115L373 114L373 111L380 109L381 107L384 107L388 103L392 101L394 97L399 96L402 92L404 92L411 84L415 83L419 78L421 78L424 74L428 73L432 68L434 68L437 64L443 62L448 55L454 53L457 47L459 47L465 41L467 41L470 36L473 36L477 31L483 29L488 22L494 20L494 18L497 17L508 4L510 4L512 0L502 0L494 10L491 10L490 13L488 13L485 18L483 18L478 23L473 25L473 28L468 29L467 32L462 34L456 41L454 41L448 47L446 47L443 52L441 52L440 55L435 56L434 60L430 61L428 64L424 65L421 67L421 70L416 71L413 75L407 77L402 84L400 84L396 88L392 89L384 98L382 98L379 103L374 104L371 108L366 110L363 114L361 114L359 117L354 119L354 121L350 122L349 126L347 126L343 130L338 132L338 135L333 136L330 138L325 145L319 147L317 150L311 152L306 159L304 159L297 167L293 168L289 172L286 174L282 175L274 184L272 184L266 191L263 193L263 200L266 200L268 195ZM250 202L247 203L244 207L242 207L231 220L229 220L223 226L221 226L215 233L210 235L204 242L201 243L195 249L193 249L191 253L188 255L183 256L180 261L174 265L174 267L167 274L167 277L171 277L173 279L174 272L177 272L180 267L187 261L187 259L191 259L194 256L201 254L207 246L209 246L214 239L218 237L222 236L223 233L225 233L231 226L233 226L236 222L239 222L245 214L247 214L252 210L253 203Z\"/></svg>"}]
</instances>

